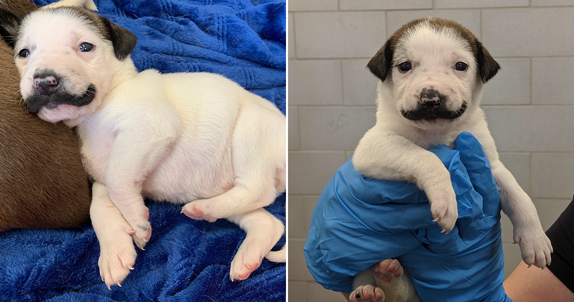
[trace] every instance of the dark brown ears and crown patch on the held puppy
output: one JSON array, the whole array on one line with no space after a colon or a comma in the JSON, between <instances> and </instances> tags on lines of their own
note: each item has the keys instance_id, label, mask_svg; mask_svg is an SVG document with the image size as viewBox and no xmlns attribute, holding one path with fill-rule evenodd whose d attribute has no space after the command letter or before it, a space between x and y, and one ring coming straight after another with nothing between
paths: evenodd
<instances>
[{"instance_id":1,"label":"dark brown ears and crown patch on the held puppy","mask_svg":"<svg viewBox=\"0 0 574 302\"><path fill-rule=\"evenodd\" d=\"M369 68L377 78L381 79L383 82L385 81L392 68L393 55L398 42L406 33L422 22L428 22L430 27L435 28L436 30L444 28L452 29L461 38L468 42L470 50L478 63L478 73L482 83L486 83L490 80L501 68L498 62L492 58L490 53L488 53L486 48L483 47L482 43L470 30L452 20L426 17L410 21L401 26L401 28L393 33L389 40L385 42L385 45L383 45L383 47L379 49L375 56L369 61L367 68Z\"/></svg>"}]
</instances>

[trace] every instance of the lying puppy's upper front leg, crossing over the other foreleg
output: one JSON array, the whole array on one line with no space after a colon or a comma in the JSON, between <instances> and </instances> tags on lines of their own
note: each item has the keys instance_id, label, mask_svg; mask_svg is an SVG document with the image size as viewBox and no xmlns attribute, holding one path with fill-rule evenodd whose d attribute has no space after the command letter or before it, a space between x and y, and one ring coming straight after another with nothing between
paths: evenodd
<instances>
[{"instance_id":1,"label":"lying puppy's upper front leg, crossing over the other foreleg","mask_svg":"<svg viewBox=\"0 0 574 302\"><path fill-rule=\"evenodd\" d=\"M134 241L144 249L152 236L149 211L142 198L142 184L168 154L174 141L167 134L156 134L142 130L123 131L118 134L110 152L106 167L106 187L115 206L135 230Z\"/></svg>"}]
</instances>

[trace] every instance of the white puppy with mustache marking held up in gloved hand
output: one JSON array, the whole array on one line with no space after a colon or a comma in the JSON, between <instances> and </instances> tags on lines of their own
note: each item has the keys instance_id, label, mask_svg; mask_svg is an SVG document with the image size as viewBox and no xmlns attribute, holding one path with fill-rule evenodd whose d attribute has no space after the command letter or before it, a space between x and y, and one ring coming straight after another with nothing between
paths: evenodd
<instances>
[{"instance_id":1,"label":"white puppy with mustache marking held up in gloved hand","mask_svg":"<svg viewBox=\"0 0 574 302\"><path fill-rule=\"evenodd\" d=\"M539 268L550 264L552 246L536 208L499 160L479 108L483 84L500 67L474 34L449 20L414 20L398 29L367 67L379 78L377 123L355 150L352 162L357 171L377 179L415 182L428 196L435 221L449 232L458 216L451 177L425 148L452 146L458 134L469 131L490 161L501 207L513 223L523 260ZM385 301L418 300L398 261L377 264L375 273ZM373 297L381 288L359 286L358 292L363 290ZM351 300L361 299L351 295Z\"/></svg>"}]
</instances>

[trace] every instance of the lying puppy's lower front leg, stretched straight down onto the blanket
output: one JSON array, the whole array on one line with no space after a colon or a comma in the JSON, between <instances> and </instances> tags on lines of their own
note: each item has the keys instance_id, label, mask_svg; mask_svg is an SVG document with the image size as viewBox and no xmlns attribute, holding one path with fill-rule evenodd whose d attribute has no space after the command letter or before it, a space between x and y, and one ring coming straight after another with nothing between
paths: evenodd
<instances>
[{"instance_id":1,"label":"lying puppy's lower front leg, stretched straight down onto the blanket","mask_svg":"<svg viewBox=\"0 0 574 302\"><path fill-rule=\"evenodd\" d=\"M100 243L100 277L108 288L114 284L121 286L137 256L131 238L134 230L111 201L106 187L99 183L92 186L90 218Z\"/></svg>"}]
</instances>

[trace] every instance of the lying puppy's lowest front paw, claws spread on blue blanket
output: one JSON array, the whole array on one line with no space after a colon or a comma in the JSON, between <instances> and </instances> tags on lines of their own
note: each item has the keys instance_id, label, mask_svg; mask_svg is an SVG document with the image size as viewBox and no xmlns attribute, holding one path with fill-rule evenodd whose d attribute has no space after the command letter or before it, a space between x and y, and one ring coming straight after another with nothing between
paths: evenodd
<instances>
[{"instance_id":1,"label":"lying puppy's lowest front paw, claws spread on blue blanket","mask_svg":"<svg viewBox=\"0 0 574 302\"><path fill-rule=\"evenodd\" d=\"M98 266L100 277L106 282L108 289L114 284L122 286L121 282L125 280L130 270L134 269L137 253L131 240L130 234L121 233L114 238L100 241Z\"/></svg>"}]
</instances>

